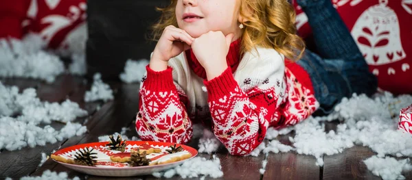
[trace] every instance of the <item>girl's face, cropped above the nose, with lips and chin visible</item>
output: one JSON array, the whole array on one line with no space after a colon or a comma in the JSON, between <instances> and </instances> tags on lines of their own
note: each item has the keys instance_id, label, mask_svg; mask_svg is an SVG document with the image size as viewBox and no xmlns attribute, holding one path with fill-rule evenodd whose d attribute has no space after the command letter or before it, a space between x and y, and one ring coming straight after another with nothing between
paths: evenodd
<instances>
[{"instance_id":1,"label":"girl's face, cropped above the nose, with lips and chin visible","mask_svg":"<svg viewBox=\"0 0 412 180\"><path fill-rule=\"evenodd\" d=\"M198 38L209 31L242 34L239 28L240 0L178 0L176 19L180 29Z\"/></svg>"}]
</instances>

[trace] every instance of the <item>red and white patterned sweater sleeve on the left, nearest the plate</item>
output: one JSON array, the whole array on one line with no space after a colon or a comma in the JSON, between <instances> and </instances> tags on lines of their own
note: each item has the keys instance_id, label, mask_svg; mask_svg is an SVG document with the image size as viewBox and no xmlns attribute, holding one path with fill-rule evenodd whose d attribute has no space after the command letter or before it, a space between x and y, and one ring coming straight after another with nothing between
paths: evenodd
<instances>
[{"instance_id":1,"label":"red and white patterned sweater sleeve on the left, nearest the plate","mask_svg":"<svg viewBox=\"0 0 412 180\"><path fill-rule=\"evenodd\" d=\"M141 140L185 144L192 138L187 97L172 78L172 68L156 72L146 67L139 97L136 130Z\"/></svg>"}]
</instances>

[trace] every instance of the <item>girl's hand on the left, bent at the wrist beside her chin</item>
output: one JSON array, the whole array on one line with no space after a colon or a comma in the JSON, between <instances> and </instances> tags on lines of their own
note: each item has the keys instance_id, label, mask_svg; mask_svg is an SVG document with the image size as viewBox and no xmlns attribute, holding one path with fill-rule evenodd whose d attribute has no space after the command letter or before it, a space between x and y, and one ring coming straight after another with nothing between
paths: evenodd
<instances>
[{"instance_id":1,"label":"girl's hand on the left, bent at the wrist beside her chin","mask_svg":"<svg viewBox=\"0 0 412 180\"><path fill-rule=\"evenodd\" d=\"M190 49L194 38L183 29L170 25L165 28L157 42L149 66L152 70L162 71L168 68L168 61L183 51Z\"/></svg>"}]
</instances>

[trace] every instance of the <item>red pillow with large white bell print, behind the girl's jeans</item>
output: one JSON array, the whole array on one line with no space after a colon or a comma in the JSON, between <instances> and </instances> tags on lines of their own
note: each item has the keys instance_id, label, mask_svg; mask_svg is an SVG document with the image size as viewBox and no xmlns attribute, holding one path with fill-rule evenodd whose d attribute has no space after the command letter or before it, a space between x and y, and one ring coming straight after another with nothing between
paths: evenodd
<instances>
[{"instance_id":1,"label":"red pillow with large white bell print, behind the girl's jeans","mask_svg":"<svg viewBox=\"0 0 412 180\"><path fill-rule=\"evenodd\" d=\"M363 53L378 86L412 94L412 1L331 0ZM294 0L297 28L310 36L308 18Z\"/></svg>"}]
</instances>

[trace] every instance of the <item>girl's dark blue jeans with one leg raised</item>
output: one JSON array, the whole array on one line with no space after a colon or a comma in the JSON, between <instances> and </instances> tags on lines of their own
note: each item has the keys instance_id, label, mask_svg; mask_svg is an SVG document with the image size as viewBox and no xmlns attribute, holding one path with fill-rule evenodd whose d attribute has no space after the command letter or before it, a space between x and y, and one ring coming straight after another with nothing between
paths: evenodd
<instances>
[{"instance_id":1,"label":"girl's dark blue jeans with one leg raised","mask_svg":"<svg viewBox=\"0 0 412 180\"><path fill-rule=\"evenodd\" d=\"M308 16L319 55L306 50L297 61L308 72L320 103L317 114L329 114L353 93L376 92L378 81L330 0L297 0Z\"/></svg>"}]
</instances>

